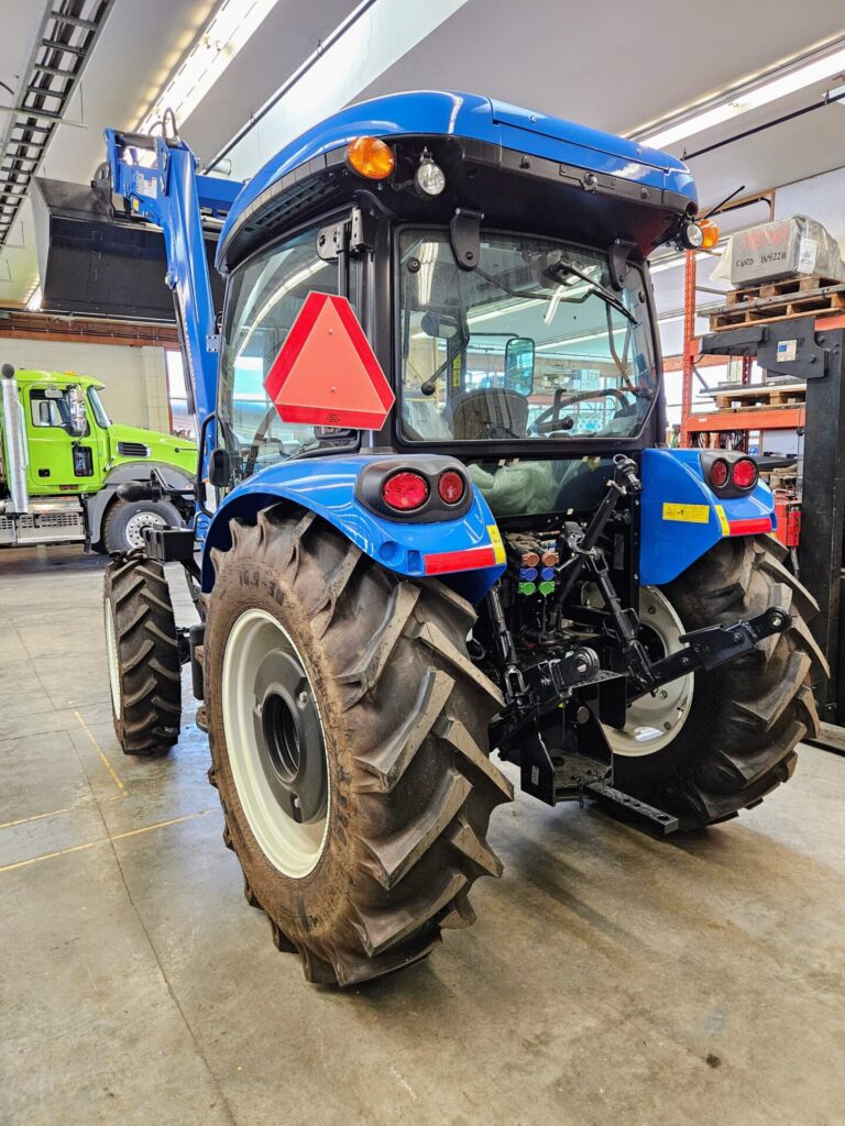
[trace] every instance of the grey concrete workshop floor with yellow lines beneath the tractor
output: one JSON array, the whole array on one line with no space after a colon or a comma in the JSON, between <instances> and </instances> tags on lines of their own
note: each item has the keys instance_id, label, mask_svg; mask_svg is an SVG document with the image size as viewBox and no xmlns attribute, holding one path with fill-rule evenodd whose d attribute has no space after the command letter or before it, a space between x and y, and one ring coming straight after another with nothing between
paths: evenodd
<instances>
[{"instance_id":1,"label":"grey concrete workshop floor with yellow lines beneath the tractor","mask_svg":"<svg viewBox=\"0 0 845 1126\"><path fill-rule=\"evenodd\" d=\"M844 759L671 842L519 796L475 927L315 989L242 897L202 734L121 753L101 571L0 554L5 1126L845 1123Z\"/></svg>"}]
</instances>

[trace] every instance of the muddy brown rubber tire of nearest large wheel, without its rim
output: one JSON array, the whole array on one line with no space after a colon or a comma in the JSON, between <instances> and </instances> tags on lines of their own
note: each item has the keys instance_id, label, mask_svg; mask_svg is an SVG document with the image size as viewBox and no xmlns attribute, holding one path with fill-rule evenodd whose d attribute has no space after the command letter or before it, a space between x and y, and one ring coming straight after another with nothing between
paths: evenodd
<instances>
[{"instance_id":1,"label":"muddy brown rubber tire of nearest large wheel, without its rim","mask_svg":"<svg viewBox=\"0 0 845 1126\"><path fill-rule=\"evenodd\" d=\"M384 570L310 513L270 509L231 531L231 551L212 552L205 645L210 780L224 839L275 945L301 955L310 981L357 984L425 957L442 929L472 922L471 885L501 874L486 841L492 808L513 798L488 751L501 696L466 653L472 607L441 583ZM225 747L225 638L252 606L283 620L319 686L330 828L302 879L261 852Z\"/></svg>"}]
</instances>

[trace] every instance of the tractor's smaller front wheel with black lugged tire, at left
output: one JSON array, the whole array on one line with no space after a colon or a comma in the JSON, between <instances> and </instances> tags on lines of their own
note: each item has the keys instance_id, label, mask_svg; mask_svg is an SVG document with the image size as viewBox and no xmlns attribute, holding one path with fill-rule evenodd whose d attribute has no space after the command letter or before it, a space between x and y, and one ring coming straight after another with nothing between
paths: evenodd
<instances>
[{"instance_id":1,"label":"tractor's smaller front wheel with black lugged tire, at left","mask_svg":"<svg viewBox=\"0 0 845 1126\"><path fill-rule=\"evenodd\" d=\"M103 608L118 742L125 754L161 754L179 738L181 716L179 641L161 564L109 563Z\"/></svg>"}]
</instances>

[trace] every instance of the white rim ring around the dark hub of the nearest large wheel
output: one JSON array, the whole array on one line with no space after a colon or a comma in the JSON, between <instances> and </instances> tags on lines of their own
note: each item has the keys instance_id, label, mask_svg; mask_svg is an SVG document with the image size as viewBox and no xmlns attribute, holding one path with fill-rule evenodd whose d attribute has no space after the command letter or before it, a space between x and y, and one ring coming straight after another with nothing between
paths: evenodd
<instances>
[{"instance_id":1,"label":"white rim ring around the dark hub of the nearest large wheel","mask_svg":"<svg viewBox=\"0 0 845 1126\"><path fill-rule=\"evenodd\" d=\"M244 610L231 628L223 655L223 729L229 763L243 814L261 851L284 876L302 879L314 870L322 856L329 832L331 783L326 760L324 726L319 700L308 672L304 680L313 704L322 736L327 793L321 814L308 822L297 822L279 805L263 766L261 749L256 735L257 698L254 686L259 667L273 652L293 654L304 670L287 631L266 610ZM311 748L311 753L317 749ZM266 753L266 752L265 752Z\"/></svg>"}]
</instances>

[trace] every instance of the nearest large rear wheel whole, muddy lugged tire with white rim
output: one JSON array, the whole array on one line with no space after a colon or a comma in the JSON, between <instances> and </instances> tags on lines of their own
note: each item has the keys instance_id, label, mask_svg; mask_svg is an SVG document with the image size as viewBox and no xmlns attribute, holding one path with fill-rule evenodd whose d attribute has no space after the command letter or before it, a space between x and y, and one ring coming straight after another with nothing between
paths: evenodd
<instances>
[{"instance_id":1,"label":"nearest large rear wheel whole, muddy lugged tire with white rim","mask_svg":"<svg viewBox=\"0 0 845 1126\"><path fill-rule=\"evenodd\" d=\"M311 513L231 525L205 640L224 841L250 904L310 981L352 985L425 957L474 919L501 864L489 761L498 689L465 638L472 607L377 566Z\"/></svg>"}]
</instances>

